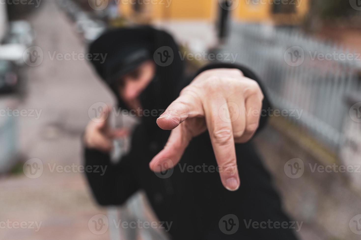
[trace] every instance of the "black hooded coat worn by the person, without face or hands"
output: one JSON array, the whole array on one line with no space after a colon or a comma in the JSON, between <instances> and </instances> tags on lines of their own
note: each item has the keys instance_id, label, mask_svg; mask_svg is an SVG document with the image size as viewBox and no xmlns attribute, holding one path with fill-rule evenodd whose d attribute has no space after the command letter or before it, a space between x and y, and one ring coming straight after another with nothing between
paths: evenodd
<instances>
[{"instance_id":1,"label":"black hooded coat worn by the person, without face or hands","mask_svg":"<svg viewBox=\"0 0 361 240\"><path fill-rule=\"evenodd\" d=\"M105 69L109 69L109 65L112 66L110 69L114 68L118 59L119 71L122 72L124 67L119 55L126 58L126 49L139 46L147 49L148 57L154 56L156 62L159 60L156 59L158 49L167 46L173 51L173 62L165 67L157 65L155 79L141 95L143 109L166 109L180 90L190 83L183 76L178 46L168 33L149 26L112 30L90 47L90 53L108 53L109 62L101 65L92 61L92 64L114 90L119 107L127 108L112 87L113 77L106 74ZM238 65L213 64L200 69L197 74L211 68L238 68L244 76L261 85L255 74ZM268 107L265 98L263 109ZM296 239L290 228L252 227L254 222L290 220L283 213L270 175L251 143L235 145L240 188L234 192L226 190L221 183L208 131L191 140L173 169L164 175L156 174L149 169L149 162L162 150L170 134L157 126L156 119L157 116L142 117L132 134L130 152L116 164L111 163L109 154L85 148L86 166L107 166L103 176L97 172L87 173L93 195L100 205L122 205L136 191L144 190L159 220L171 223L169 233L172 239ZM266 117L262 117L260 129L265 123Z\"/></svg>"}]
</instances>

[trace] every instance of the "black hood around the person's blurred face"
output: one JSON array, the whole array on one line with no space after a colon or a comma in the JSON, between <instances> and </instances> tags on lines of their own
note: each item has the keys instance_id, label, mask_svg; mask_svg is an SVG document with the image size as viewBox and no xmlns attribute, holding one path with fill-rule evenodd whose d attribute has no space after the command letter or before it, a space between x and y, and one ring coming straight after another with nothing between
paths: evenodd
<instances>
[{"instance_id":1,"label":"black hood around the person's blurred face","mask_svg":"<svg viewBox=\"0 0 361 240\"><path fill-rule=\"evenodd\" d=\"M183 63L173 37L151 26L117 28L103 33L92 42L88 52L92 56L106 56L104 62L93 58L91 63L114 92L118 107L127 110L132 109L119 96L114 81L145 60L151 59L156 63L155 77L142 91L139 100L143 109L142 122L148 130L158 129L156 119L178 96L183 79Z\"/></svg>"}]
</instances>

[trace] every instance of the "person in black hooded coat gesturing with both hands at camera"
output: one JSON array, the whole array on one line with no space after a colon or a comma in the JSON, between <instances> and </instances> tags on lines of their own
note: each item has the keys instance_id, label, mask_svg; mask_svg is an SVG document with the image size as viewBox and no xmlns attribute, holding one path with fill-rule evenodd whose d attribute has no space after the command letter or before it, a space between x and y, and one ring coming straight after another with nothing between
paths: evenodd
<instances>
[{"instance_id":1,"label":"person in black hooded coat gesturing with both hands at camera","mask_svg":"<svg viewBox=\"0 0 361 240\"><path fill-rule=\"evenodd\" d=\"M107 167L104 174L87 172L100 205L122 205L144 190L159 220L172 223L172 239L296 239L249 142L269 108L255 74L219 63L187 81L173 38L149 26L106 32L90 53L108 54L92 64L119 108L166 109L140 118L118 163L109 151L121 133L107 126L107 113L104 121L90 121L83 137L86 167Z\"/></svg>"}]
</instances>

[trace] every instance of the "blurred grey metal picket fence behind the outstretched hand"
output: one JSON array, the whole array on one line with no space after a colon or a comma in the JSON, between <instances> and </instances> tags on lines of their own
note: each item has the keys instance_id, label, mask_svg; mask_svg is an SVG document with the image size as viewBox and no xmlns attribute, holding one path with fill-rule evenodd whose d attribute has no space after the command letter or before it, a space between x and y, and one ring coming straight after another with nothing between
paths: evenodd
<instances>
[{"instance_id":1,"label":"blurred grey metal picket fence behind the outstretched hand","mask_svg":"<svg viewBox=\"0 0 361 240\"><path fill-rule=\"evenodd\" d=\"M234 23L231 32L222 52L238 53L237 62L257 73L273 109L339 149L351 107L344 98L361 96L360 54L300 30Z\"/></svg>"}]
</instances>

